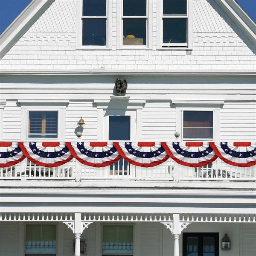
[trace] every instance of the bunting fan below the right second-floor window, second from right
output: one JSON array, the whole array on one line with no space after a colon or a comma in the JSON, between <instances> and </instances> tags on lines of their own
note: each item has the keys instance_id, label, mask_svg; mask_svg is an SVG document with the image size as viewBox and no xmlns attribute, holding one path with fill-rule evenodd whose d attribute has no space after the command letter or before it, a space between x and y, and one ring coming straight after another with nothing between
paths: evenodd
<instances>
[{"instance_id":1,"label":"bunting fan below the right second-floor window, second from right","mask_svg":"<svg viewBox=\"0 0 256 256\"><path fill-rule=\"evenodd\" d=\"M183 166L201 167L217 156L207 142L162 142L167 154Z\"/></svg>"}]
</instances>

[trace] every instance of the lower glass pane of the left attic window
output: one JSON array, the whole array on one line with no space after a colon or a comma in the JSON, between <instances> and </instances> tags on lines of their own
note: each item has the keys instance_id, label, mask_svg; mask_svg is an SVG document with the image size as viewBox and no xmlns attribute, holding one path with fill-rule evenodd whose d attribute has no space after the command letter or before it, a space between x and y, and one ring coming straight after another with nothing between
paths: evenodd
<instances>
[{"instance_id":1,"label":"lower glass pane of the left attic window","mask_svg":"<svg viewBox=\"0 0 256 256\"><path fill-rule=\"evenodd\" d=\"M83 19L83 45L106 45L106 19Z\"/></svg>"}]
</instances>

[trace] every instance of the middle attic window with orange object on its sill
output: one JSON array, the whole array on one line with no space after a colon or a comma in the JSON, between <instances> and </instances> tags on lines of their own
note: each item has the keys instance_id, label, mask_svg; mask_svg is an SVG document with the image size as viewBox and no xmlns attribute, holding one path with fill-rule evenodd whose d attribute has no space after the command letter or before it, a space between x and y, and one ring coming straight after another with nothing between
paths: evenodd
<instances>
[{"instance_id":1,"label":"middle attic window with orange object on its sill","mask_svg":"<svg viewBox=\"0 0 256 256\"><path fill-rule=\"evenodd\" d=\"M123 0L123 45L147 44L147 0Z\"/></svg>"}]
</instances>

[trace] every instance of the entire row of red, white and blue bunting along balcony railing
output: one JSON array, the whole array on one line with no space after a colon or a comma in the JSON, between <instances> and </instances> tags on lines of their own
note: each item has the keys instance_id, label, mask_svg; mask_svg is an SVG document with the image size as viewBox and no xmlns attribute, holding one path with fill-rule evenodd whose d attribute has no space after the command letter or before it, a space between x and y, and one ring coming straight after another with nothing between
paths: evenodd
<instances>
[{"instance_id":1,"label":"entire row of red, white and blue bunting along balcony railing","mask_svg":"<svg viewBox=\"0 0 256 256\"><path fill-rule=\"evenodd\" d=\"M123 157L135 166L153 167L169 157L183 166L201 167L217 157L232 166L256 164L251 142L0 142L0 167L27 157L38 166L57 167L75 157L87 166L105 167Z\"/></svg>"}]
</instances>

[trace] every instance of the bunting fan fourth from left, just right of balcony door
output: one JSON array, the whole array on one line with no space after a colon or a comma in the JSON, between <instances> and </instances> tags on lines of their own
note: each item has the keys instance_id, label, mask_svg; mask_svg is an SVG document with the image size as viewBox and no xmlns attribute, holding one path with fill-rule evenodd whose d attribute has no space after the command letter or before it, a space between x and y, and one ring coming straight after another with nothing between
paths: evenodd
<instances>
[{"instance_id":1,"label":"bunting fan fourth from left, just right of balcony door","mask_svg":"<svg viewBox=\"0 0 256 256\"><path fill-rule=\"evenodd\" d=\"M169 158L160 142L114 142L114 145L119 154L135 166L157 166Z\"/></svg>"}]
</instances>

